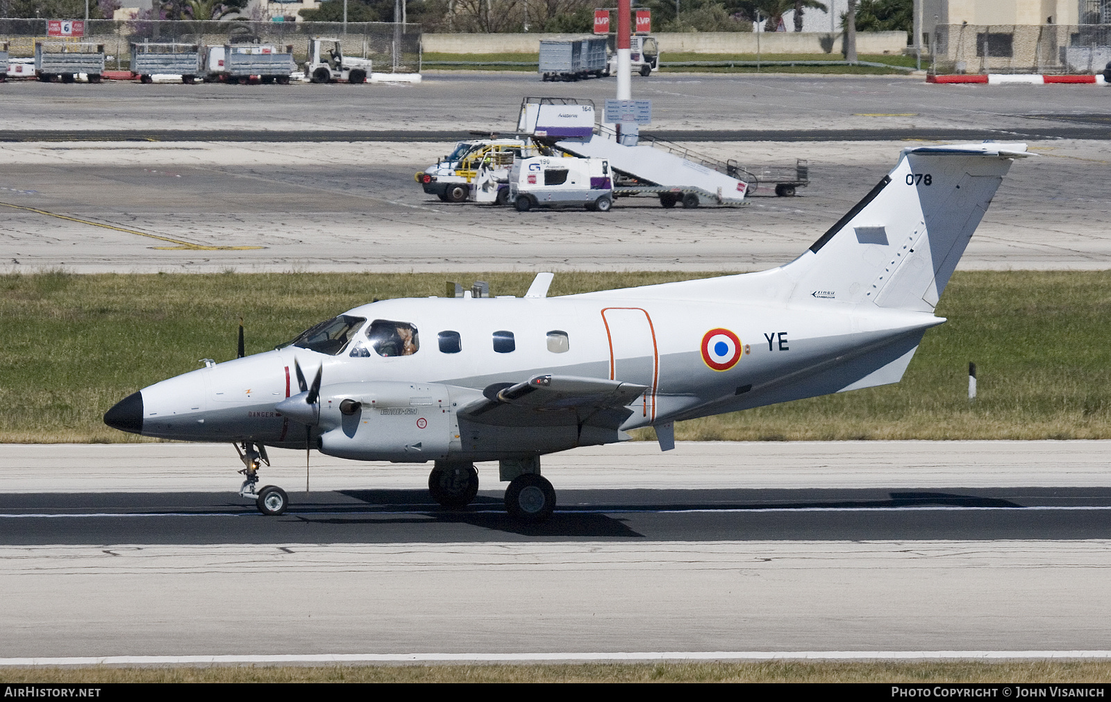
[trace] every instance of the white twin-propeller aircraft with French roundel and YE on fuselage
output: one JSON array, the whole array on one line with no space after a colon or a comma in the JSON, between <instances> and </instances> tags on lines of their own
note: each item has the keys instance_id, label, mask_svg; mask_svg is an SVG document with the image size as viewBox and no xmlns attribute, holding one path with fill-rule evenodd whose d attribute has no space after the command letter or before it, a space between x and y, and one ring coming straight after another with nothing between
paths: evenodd
<instances>
[{"instance_id":1,"label":"white twin-propeller aircraft with French roundel and YE on fuselage","mask_svg":"<svg viewBox=\"0 0 1111 702\"><path fill-rule=\"evenodd\" d=\"M894 169L794 261L759 273L548 298L364 304L256 355L144 388L104 414L123 431L236 445L240 494L266 447L424 463L432 497L468 504L474 461L500 461L506 508L556 505L540 457L674 422L898 382L958 260L1025 144L904 149ZM301 368L311 369L307 382Z\"/></svg>"}]
</instances>

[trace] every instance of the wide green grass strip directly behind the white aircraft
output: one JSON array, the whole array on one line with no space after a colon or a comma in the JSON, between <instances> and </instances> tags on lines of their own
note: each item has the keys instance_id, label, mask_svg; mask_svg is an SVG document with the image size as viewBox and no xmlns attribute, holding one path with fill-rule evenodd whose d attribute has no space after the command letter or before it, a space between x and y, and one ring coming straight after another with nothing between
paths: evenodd
<instances>
[{"instance_id":1,"label":"wide green grass strip directly behind the white aircraft","mask_svg":"<svg viewBox=\"0 0 1111 702\"><path fill-rule=\"evenodd\" d=\"M559 273L551 294L709 273ZM532 273L0 275L0 442L127 442L101 415L127 394L258 353L373 298L446 280L522 295ZM1111 272L958 272L901 383L709 417L681 440L1109 439ZM968 363L979 397L968 401ZM639 439L651 439L651 430Z\"/></svg>"}]
</instances>

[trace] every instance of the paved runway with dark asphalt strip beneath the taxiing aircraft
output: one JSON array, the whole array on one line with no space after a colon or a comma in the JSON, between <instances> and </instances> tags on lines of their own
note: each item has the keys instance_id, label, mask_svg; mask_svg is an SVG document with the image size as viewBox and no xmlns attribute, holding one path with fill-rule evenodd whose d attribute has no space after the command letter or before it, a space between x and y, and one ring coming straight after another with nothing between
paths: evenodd
<instances>
[{"instance_id":1,"label":"paved runway with dark asphalt strip beneath the taxiing aircraft","mask_svg":"<svg viewBox=\"0 0 1111 702\"><path fill-rule=\"evenodd\" d=\"M488 464L449 512L419 467L314 460L307 497L276 452L273 519L227 447L4 447L0 658L1107 651L1108 444L582 449L529 529Z\"/></svg>"}]
</instances>

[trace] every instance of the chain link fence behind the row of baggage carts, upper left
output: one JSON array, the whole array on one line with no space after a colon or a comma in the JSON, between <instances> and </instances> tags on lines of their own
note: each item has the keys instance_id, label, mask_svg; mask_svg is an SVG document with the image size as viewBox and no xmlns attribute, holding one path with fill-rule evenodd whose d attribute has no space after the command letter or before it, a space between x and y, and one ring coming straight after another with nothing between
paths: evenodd
<instances>
[{"instance_id":1,"label":"chain link fence behind the row of baggage carts, upper left","mask_svg":"<svg viewBox=\"0 0 1111 702\"><path fill-rule=\"evenodd\" d=\"M343 54L374 62L382 73L420 72L419 24L393 22L244 22L178 20L90 20L84 37L47 37L47 20L0 19L0 43L9 43L12 58L34 56L36 41L72 41L103 44L109 70L130 68L132 42L179 42L201 46L258 43L279 49L293 47L293 59L308 59L309 39L326 37L342 42Z\"/></svg>"}]
</instances>

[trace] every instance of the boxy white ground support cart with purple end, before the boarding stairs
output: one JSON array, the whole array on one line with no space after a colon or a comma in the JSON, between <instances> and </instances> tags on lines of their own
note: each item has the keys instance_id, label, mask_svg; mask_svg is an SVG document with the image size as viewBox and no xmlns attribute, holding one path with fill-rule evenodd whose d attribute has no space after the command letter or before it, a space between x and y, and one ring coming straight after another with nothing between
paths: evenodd
<instances>
[{"instance_id":1,"label":"boxy white ground support cart with purple end, before the boarding stairs","mask_svg":"<svg viewBox=\"0 0 1111 702\"><path fill-rule=\"evenodd\" d=\"M509 198L518 212L580 204L593 212L609 212L613 207L613 180L605 159L514 159L509 172Z\"/></svg>"}]
</instances>

